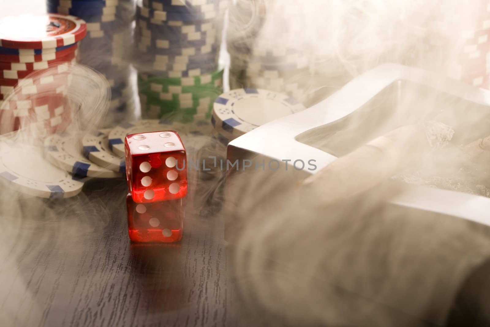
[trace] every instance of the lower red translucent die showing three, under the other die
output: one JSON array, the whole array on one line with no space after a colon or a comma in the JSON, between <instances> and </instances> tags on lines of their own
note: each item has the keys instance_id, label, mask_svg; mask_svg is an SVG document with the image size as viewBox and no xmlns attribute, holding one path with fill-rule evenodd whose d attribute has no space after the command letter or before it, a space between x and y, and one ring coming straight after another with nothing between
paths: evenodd
<instances>
[{"instance_id":1,"label":"lower red translucent die showing three, under the other die","mask_svg":"<svg viewBox=\"0 0 490 327\"><path fill-rule=\"evenodd\" d=\"M183 199L136 203L126 197L127 226L133 242L177 242L182 238Z\"/></svg>"}]
</instances>

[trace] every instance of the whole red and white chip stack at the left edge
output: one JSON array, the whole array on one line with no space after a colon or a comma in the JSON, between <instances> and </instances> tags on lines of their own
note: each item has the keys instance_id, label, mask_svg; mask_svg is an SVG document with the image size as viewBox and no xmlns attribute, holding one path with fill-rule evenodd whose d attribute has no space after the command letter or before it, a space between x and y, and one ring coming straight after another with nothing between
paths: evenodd
<instances>
[{"instance_id":1,"label":"whole red and white chip stack at the left edge","mask_svg":"<svg viewBox=\"0 0 490 327\"><path fill-rule=\"evenodd\" d=\"M69 15L0 20L0 134L31 125L50 134L69 125L67 71L86 33L85 21Z\"/></svg>"}]
</instances>

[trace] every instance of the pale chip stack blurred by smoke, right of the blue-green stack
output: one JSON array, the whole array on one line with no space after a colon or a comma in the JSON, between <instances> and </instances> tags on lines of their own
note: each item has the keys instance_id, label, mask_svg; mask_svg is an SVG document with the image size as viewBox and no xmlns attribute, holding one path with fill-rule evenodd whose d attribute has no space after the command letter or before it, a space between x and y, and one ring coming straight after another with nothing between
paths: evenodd
<instances>
[{"instance_id":1,"label":"pale chip stack blurred by smoke, right of the blue-green stack","mask_svg":"<svg viewBox=\"0 0 490 327\"><path fill-rule=\"evenodd\" d=\"M236 26L242 22L237 16L243 10L230 10L227 42L230 87L263 88L307 101L311 88L311 55L298 42L301 31L295 19L297 15L280 2L268 2L267 6L259 7L248 4L248 8L255 13L248 15L251 18L246 28ZM237 32L240 29L244 30L243 37Z\"/></svg>"}]
</instances>

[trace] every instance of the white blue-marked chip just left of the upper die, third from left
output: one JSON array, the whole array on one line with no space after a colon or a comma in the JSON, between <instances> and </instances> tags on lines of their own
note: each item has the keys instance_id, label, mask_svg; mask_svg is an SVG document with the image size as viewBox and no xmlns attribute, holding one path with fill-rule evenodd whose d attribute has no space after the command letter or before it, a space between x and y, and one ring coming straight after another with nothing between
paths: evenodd
<instances>
[{"instance_id":1,"label":"white blue-marked chip just left of the upper die, third from left","mask_svg":"<svg viewBox=\"0 0 490 327\"><path fill-rule=\"evenodd\" d=\"M110 128L105 128L95 133L84 135L82 138L83 155L100 167L125 174L126 164L124 157L118 156L109 150L109 131Z\"/></svg>"}]
</instances>

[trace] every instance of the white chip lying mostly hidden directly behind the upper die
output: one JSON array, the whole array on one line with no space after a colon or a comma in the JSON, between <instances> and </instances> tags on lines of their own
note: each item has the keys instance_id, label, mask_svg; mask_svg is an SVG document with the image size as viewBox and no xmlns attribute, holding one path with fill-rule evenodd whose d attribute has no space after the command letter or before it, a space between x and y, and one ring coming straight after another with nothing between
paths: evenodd
<instances>
[{"instance_id":1,"label":"white chip lying mostly hidden directly behind the upper die","mask_svg":"<svg viewBox=\"0 0 490 327\"><path fill-rule=\"evenodd\" d=\"M180 134L183 128L186 127L182 124L158 119L143 119L134 123L124 123L114 127L109 132L109 148L114 154L124 157L124 138L128 134L160 130L176 130Z\"/></svg>"}]
</instances>

